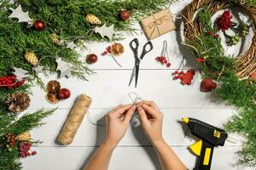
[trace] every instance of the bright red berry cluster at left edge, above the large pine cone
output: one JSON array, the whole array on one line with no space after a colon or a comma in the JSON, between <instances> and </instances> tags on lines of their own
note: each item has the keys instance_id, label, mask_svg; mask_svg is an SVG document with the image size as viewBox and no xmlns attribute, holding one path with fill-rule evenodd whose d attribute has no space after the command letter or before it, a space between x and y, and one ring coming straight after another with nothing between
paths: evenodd
<instances>
[{"instance_id":1,"label":"bright red berry cluster at left edge, above the large pine cone","mask_svg":"<svg viewBox=\"0 0 256 170\"><path fill-rule=\"evenodd\" d=\"M0 88L19 88L24 84L25 80L16 82L15 76L0 77Z\"/></svg>"}]
</instances>

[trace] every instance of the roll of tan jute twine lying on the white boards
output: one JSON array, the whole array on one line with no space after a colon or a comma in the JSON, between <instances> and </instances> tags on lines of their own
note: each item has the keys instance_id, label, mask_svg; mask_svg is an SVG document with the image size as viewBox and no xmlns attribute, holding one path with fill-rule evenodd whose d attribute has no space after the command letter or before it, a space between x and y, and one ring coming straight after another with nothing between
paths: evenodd
<instances>
[{"instance_id":1,"label":"roll of tan jute twine lying on the white boards","mask_svg":"<svg viewBox=\"0 0 256 170\"><path fill-rule=\"evenodd\" d=\"M61 129L61 133L58 136L57 141L60 144L71 144L74 136L79 129L80 124L83 122L84 115L88 111L91 104L91 99L85 94L81 94L73 105L73 109L70 111L67 117L67 122Z\"/></svg>"}]
</instances>

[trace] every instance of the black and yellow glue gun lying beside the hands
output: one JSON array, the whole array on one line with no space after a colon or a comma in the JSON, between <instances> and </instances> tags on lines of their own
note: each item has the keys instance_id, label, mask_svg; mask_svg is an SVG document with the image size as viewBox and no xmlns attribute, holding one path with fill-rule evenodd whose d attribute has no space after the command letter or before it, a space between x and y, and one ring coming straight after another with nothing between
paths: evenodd
<instances>
[{"instance_id":1,"label":"black and yellow glue gun lying beside the hands","mask_svg":"<svg viewBox=\"0 0 256 170\"><path fill-rule=\"evenodd\" d=\"M183 122L187 123L191 133L200 139L189 146L189 149L198 156L194 170L210 170L213 149L218 145L224 146L228 133L193 118L185 117Z\"/></svg>"}]
</instances>

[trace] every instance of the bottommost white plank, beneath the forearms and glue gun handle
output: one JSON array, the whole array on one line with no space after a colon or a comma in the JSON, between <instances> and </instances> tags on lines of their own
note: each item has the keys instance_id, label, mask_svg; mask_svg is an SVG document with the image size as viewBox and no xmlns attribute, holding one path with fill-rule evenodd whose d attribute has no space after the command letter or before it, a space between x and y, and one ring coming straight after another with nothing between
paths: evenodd
<instances>
[{"instance_id":1,"label":"bottommost white plank, beneath the forearms and glue gun handle","mask_svg":"<svg viewBox=\"0 0 256 170\"><path fill-rule=\"evenodd\" d=\"M79 170L84 161L95 149L93 147L39 147L37 156L22 159L24 169L47 169L47 170ZM177 156L183 160L189 169L195 166L195 156L186 147L173 146ZM214 150L212 169L251 170L239 165L236 151L239 147L221 147ZM155 162L155 165L154 165ZM118 147L113 152L109 170L155 170L159 168L157 156L151 147Z\"/></svg>"}]
</instances>

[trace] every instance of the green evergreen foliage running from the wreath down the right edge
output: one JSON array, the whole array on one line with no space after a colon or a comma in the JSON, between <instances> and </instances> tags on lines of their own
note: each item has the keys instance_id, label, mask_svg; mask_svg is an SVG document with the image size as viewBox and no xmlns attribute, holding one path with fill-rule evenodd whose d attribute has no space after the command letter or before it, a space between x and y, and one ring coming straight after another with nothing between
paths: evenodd
<instances>
[{"instance_id":1,"label":"green evergreen foliage running from the wreath down the right edge","mask_svg":"<svg viewBox=\"0 0 256 170\"><path fill-rule=\"evenodd\" d=\"M195 41L189 42L197 57L206 57L201 64L203 77L210 77L217 80L219 85L214 91L221 99L230 105L235 105L238 114L233 116L231 121L225 125L229 132L240 133L247 140L239 152L241 162L248 166L256 165L256 105L253 102L253 94L256 92L256 84L250 80L241 81L236 77L234 68L235 59L224 55L224 48L219 38L209 35L209 31L217 32L212 27L212 14L208 10L199 13L199 20L205 26L206 33L197 35Z\"/></svg>"}]
</instances>

